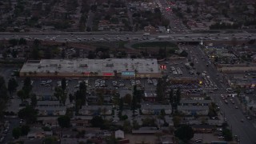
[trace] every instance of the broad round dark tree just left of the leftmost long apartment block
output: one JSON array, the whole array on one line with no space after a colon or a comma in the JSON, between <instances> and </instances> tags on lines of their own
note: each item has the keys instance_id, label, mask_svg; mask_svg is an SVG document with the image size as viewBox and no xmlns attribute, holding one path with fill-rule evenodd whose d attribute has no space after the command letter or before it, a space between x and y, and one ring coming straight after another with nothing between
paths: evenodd
<instances>
[{"instance_id":1,"label":"broad round dark tree just left of the leftmost long apartment block","mask_svg":"<svg viewBox=\"0 0 256 144\"><path fill-rule=\"evenodd\" d=\"M31 106L26 106L22 110L18 111L18 118L22 118L27 124L31 124L37 121L38 111L34 110Z\"/></svg>"}]
</instances>

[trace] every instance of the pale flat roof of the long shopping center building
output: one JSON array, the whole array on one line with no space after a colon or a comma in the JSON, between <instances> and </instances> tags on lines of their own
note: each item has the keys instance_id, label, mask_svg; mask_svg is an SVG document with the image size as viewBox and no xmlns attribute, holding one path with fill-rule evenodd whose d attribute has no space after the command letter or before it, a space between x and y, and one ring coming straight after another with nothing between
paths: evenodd
<instances>
[{"instance_id":1,"label":"pale flat roof of the long shopping center building","mask_svg":"<svg viewBox=\"0 0 256 144\"><path fill-rule=\"evenodd\" d=\"M132 59L132 58L108 58L108 59L42 59L29 60L20 72L23 73L90 73L111 72L117 70L134 71L138 73L160 73L157 59Z\"/></svg>"}]
</instances>

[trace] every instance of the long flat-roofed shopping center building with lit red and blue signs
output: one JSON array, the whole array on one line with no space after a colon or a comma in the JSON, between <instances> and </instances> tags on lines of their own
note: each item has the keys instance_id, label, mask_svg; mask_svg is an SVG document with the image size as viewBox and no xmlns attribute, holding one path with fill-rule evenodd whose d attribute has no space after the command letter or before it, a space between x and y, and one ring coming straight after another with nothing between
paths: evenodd
<instances>
[{"instance_id":1,"label":"long flat-roofed shopping center building with lit red and blue signs","mask_svg":"<svg viewBox=\"0 0 256 144\"><path fill-rule=\"evenodd\" d=\"M157 59L78 58L28 60L20 76L160 78L162 73Z\"/></svg>"}]
</instances>

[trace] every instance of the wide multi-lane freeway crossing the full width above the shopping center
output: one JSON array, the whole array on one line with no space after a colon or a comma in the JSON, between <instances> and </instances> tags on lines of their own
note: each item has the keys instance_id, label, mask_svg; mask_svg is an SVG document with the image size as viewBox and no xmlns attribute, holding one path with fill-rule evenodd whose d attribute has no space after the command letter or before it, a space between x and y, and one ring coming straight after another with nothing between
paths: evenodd
<instances>
[{"instance_id":1,"label":"wide multi-lane freeway crossing the full width above the shopping center","mask_svg":"<svg viewBox=\"0 0 256 144\"><path fill-rule=\"evenodd\" d=\"M10 38L26 38L28 40L40 39L56 42L88 42L88 41L172 41L172 42L198 42L198 41L248 41L255 39L256 34L236 33L236 34L150 34L144 37L142 33L126 33L126 34L91 34L91 33L0 33L1 39Z\"/></svg>"}]
</instances>

